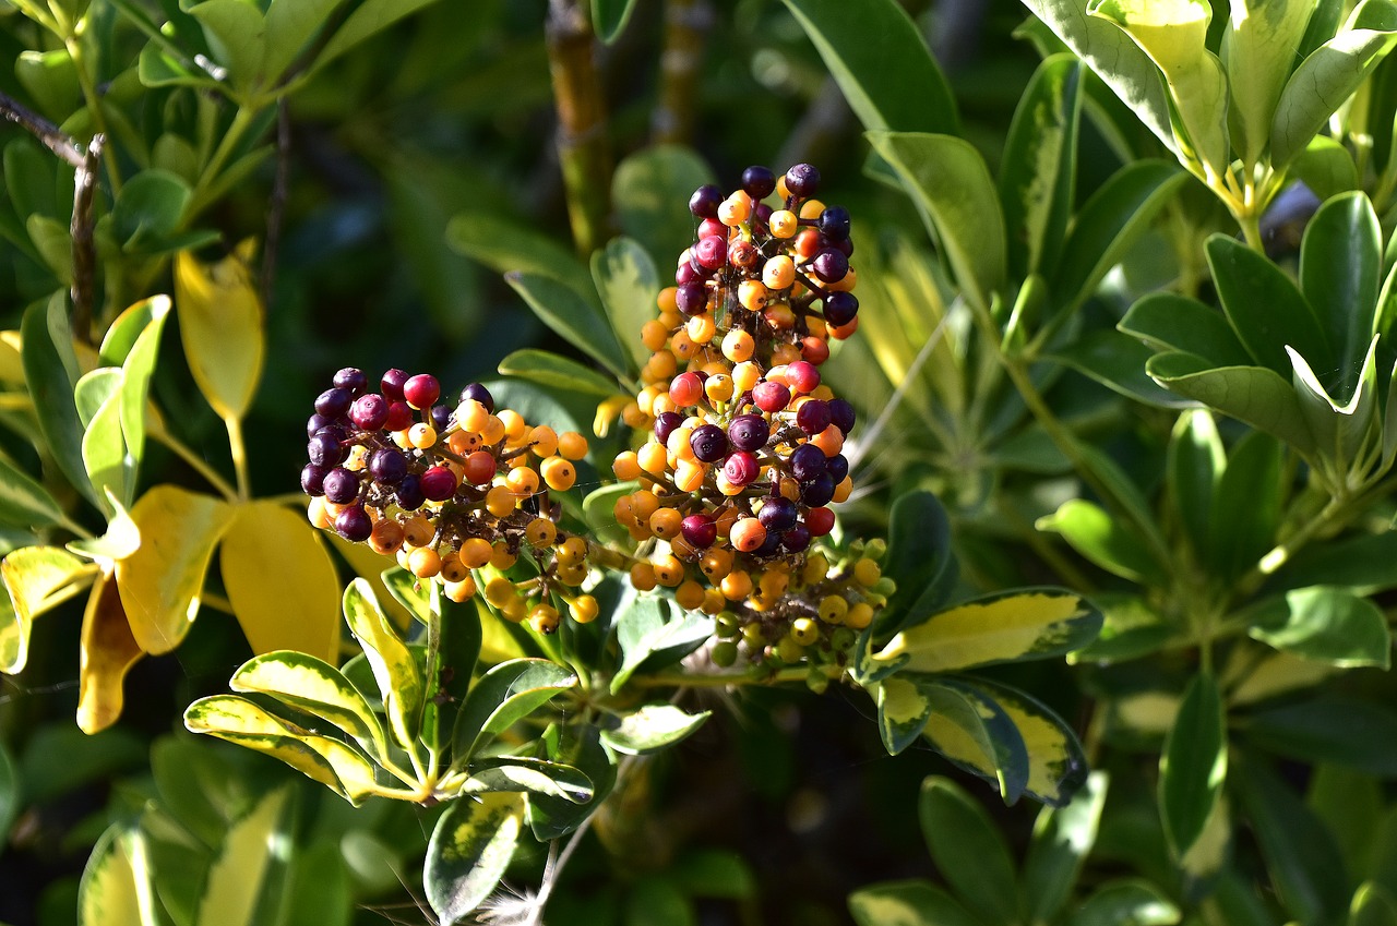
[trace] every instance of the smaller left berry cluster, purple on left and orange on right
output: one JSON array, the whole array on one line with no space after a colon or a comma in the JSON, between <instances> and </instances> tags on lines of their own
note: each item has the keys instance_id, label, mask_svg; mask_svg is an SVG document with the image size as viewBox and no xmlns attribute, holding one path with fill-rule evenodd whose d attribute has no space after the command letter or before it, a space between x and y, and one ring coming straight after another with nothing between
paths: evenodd
<instances>
[{"instance_id":1,"label":"smaller left berry cluster, purple on left and orange on right","mask_svg":"<svg viewBox=\"0 0 1397 926\"><path fill-rule=\"evenodd\" d=\"M562 506L549 500L576 482L587 439L496 412L479 383L454 409L440 397L429 374L388 370L372 392L360 370L335 373L306 425L310 522L395 556L419 578L440 577L453 601L475 595L472 571L485 570L486 599L543 633L557 629L553 594L576 620L592 620L597 601L577 592L587 541L559 529ZM538 574L503 575L525 552Z\"/></svg>"}]
</instances>

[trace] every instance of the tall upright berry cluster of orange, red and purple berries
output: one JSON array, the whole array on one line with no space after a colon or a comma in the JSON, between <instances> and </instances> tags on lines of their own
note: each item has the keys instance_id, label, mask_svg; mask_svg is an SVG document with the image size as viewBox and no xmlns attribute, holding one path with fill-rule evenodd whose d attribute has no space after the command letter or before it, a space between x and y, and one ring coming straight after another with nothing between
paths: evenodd
<instances>
[{"instance_id":1,"label":"tall upright berry cluster of orange, red and purple berries","mask_svg":"<svg viewBox=\"0 0 1397 926\"><path fill-rule=\"evenodd\" d=\"M694 191L697 240L641 330L652 355L623 412L651 433L613 464L643 485L616 520L637 542L664 542L631 582L673 588L784 661L821 641L847 648L852 634L835 629L868 627L882 603L876 561L831 571L810 549L834 528L827 506L852 490L841 451L854 406L820 365L830 338L858 328L849 214L814 198L819 179L806 163L780 179L749 168L728 197Z\"/></svg>"}]
</instances>

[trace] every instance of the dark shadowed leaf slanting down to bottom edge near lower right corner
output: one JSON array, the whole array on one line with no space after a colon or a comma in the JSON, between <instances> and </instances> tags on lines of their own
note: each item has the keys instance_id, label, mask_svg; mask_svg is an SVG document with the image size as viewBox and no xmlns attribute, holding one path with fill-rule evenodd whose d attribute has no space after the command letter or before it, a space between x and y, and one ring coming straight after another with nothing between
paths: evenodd
<instances>
[{"instance_id":1,"label":"dark shadowed leaf slanting down to bottom edge near lower right corner","mask_svg":"<svg viewBox=\"0 0 1397 926\"><path fill-rule=\"evenodd\" d=\"M1329 830L1260 761L1238 763L1231 777L1287 915L1302 923L1336 922L1348 909L1350 881Z\"/></svg>"}]
</instances>

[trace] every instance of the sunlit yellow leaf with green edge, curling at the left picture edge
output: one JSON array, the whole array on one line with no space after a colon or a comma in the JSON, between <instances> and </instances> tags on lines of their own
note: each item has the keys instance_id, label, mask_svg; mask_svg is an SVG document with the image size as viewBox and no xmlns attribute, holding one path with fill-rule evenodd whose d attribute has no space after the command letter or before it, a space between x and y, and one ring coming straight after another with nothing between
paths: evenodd
<instances>
[{"instance_id":1,"label":"sunlit yellow leaf with green edge, curling at the left picture edge","mask_svg":"<svg viewBox=\"0 0 1397 926\"><path fill-rule=\"evenodd\" d=\"M24 669L34 619L81 591L96 571L56 546L22 546L0 560L8 605L0 609L0 672Z\"/></svg>"}]
</instances>

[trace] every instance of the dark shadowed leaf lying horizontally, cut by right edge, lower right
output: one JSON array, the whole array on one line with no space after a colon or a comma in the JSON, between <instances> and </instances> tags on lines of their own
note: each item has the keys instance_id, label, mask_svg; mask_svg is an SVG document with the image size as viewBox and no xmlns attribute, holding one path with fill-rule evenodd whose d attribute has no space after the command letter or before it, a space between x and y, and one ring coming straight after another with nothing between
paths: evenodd
<instances>
[{"instance_id":1,"label":"dark shadowed leaf lying horizontally, cut by right edge, lower right","mask_svg":"<svg viewBox=\"0 0 1397 926\"><path fill-rule=\"evenodd\" d=\"M1397 712L1356 697L1322 694L1245 715L1249 743L1287 758L1397 775Z\"/></svg>"}]
</instances>

